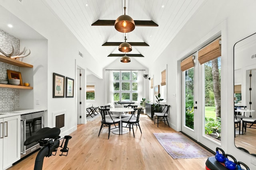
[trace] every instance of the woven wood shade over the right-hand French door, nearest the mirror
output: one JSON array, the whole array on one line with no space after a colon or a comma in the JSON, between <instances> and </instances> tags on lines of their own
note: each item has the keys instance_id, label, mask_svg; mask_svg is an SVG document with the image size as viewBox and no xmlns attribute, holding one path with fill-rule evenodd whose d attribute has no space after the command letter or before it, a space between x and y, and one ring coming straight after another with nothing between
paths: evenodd
<instances>
[{"instance_id":1,"label":"woven wood shade over the right-hand French door, nearest the mirror","mask_svg":"<svg viewBox=\"0 0 256 170\"><path fill-rule=\"evenodd\" d=\"M220 40L221 39L218 38L198 51L198 61L200 64L207 63L221 56Z\"/></svg>"}]
</instances>

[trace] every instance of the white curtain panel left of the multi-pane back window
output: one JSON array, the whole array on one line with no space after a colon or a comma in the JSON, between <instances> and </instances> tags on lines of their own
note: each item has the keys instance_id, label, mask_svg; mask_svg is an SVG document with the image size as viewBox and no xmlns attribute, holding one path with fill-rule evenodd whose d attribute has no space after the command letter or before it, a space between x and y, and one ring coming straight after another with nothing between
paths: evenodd
<instances>
[{"instance_id":1,"label":"white curtain panel left of the multi-pane back window","mask_svg":"<svg viewBox=\"0 0 256 170\"><path fill-rule=\"evenodd\" d=\"M113 71L106 70L105 72L105 104L113 101Z\"/></svg>"}]
</instances>

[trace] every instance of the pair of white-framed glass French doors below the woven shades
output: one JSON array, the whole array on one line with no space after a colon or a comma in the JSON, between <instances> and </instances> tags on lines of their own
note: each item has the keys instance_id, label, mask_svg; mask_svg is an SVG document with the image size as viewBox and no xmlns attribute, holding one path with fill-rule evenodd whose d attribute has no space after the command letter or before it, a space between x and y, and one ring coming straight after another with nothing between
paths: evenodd
<instances>
[{"instance_id":1,"label":"pair of white-framed glass French doors below the woven shades","mask_svg":"<svg viewBox=\"0 0 256 170\"><path fill-rule=\"evenodd\" d=\"M182 72L182 132L210 149L220 146L220 57ZM219 90L219 91L218 91Z\"/></svg>"}]
</instances>

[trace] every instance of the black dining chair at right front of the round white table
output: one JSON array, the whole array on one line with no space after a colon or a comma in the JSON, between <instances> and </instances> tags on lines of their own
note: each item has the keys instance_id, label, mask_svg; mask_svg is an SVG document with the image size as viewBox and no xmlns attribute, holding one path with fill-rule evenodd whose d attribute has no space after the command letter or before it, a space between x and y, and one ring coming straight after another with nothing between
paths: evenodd
<instances>
[{"instance_id":1,"label":"black dining chair at right front of the round white table","mask_svg":"<svg viewBox=\"0 0 256 170\"><path fill-rule=\"evenodd\" d=\"M122 127L127 127L127 126L123 126L123 123L127 123L127 125L129 125L129 131L131 131L131 126L132 126L133 137L135 137L133 125L136 125L140 128L140 123L139 123L140 122L140 111L142 110L142 107L137 107L134 110L135 111L132 112L132 115L130 117L124 117L121 119ZM137 117L134 117L133 115L135 114L136 110L138 111ZM140 129L140 133L142 133L141 129ZM123 132L122 132L122 134L123 134Z\"/></svg>"}]
</instances>

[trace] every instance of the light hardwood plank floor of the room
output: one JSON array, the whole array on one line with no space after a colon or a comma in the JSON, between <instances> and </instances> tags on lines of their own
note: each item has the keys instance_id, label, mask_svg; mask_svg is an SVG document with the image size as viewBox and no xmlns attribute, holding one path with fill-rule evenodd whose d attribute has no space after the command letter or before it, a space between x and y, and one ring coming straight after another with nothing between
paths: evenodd
<instances>
[{"instance_id":1,"label":"light hardwood plank floor of the room","mask_svg":"<svg viewBox=\"0 0 256 170\"><path fill-rule=\"evenodd\" d=\"M154 125L147 116L141 115L139 129L124 135L110 134L103 127L100 137L100 117L78 125L71 133L68 156L44 158L44 170L205 170L207 158L172 159L153 133L176 133L163 122ZM114 127L114 125L113 125ZM36 153L15 164L8 170L32 170ZM212 155L214 156L214 155Z\"/></svg>"}]
</instances>

